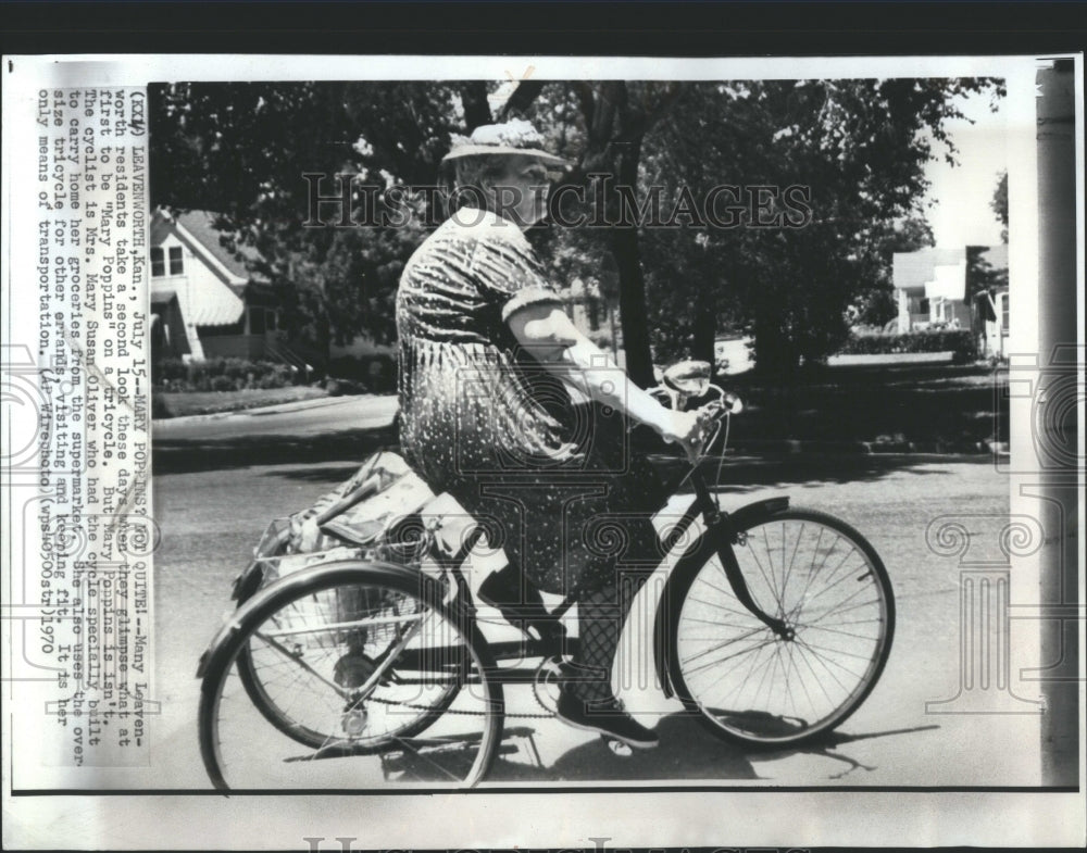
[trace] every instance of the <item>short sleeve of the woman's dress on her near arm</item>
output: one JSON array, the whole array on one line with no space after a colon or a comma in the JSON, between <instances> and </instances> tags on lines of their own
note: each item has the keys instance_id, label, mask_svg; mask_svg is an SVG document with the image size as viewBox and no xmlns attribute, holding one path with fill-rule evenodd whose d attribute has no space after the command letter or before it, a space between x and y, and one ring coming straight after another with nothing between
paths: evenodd
<instances>
[{"instance_id":1,"label":"short sleeve of the woman's dress on her near arm","mask_svg":"<svg viewBox=\"0 0 1087 853\"><path fill-rule=\"evenodd\" d=\"M470 268L483 297L501 306L503 322L526 305L562 305L562 298L516 225L492 216L475 230L478 240Z\"/></svg>"}]
</instances>

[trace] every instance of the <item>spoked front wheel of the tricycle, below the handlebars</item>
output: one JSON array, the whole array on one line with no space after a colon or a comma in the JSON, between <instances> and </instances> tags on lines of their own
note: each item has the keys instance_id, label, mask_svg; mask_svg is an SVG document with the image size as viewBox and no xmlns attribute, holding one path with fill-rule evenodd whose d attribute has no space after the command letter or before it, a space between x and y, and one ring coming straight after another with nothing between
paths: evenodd
<instances>
[{"instance_id":1,"label":"spoked front wheel of the tricycle, below the handlebars","mask_svg":"<svg viewBox=\"0 0 1087 853\"><path fill-rule=\"evenodd\" d=\"M727 739L761 748L816 740L857 711L890 654L887 569L857 530L814 510L760 519L738 539L752 598L792 636L778 637L736 599L713 553L665 602L672 683Z\"/></svg>"}]
</instances>

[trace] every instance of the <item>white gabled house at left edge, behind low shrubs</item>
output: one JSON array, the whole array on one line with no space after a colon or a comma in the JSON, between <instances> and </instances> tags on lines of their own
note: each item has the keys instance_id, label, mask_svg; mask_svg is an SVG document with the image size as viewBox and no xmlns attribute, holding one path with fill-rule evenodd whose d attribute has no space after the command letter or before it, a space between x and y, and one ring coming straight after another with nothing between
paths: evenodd
<instances>
[{"instance_id":1,"label":"white gabled house at left edge, behind low shrubs","mask_svg":"<svg viewBox=\"0 0 1087 853\"><path fill-rule=\"evenodd\" d=\"M152 217L152 352L295 363L272 288L251 271L260 255L248 246L229 251L214 223L209 211L158 210Z\"/></svg>"}]
</instances>

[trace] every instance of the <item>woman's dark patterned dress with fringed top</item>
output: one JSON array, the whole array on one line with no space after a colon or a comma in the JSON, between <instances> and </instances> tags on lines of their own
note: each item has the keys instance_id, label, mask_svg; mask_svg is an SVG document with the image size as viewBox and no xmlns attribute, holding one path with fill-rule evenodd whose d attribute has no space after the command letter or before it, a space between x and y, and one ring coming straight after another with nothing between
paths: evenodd
<instances>
[{"instance_id":1,"label":"woman's dark patterned dress with fringed top","mask_svg":"<svg viewBox=\"0 0 1087 853\"><path fill-rule=\"evenodd\" d=\"M574 405L507 319L562 305L521 229L462 209L412 255L397 293L400 438L435 492L547 592L610 586L660 562L660 480L628 452L622 415Z\"/></svg>"}]
</instances>

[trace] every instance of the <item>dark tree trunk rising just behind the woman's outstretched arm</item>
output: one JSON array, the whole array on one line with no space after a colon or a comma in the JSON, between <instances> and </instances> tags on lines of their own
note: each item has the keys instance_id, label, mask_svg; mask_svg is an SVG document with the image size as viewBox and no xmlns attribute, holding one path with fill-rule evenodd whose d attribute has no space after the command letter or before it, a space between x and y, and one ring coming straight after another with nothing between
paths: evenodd
<instances>
[{"instance_id":1,"label":"dark tree trunk rising just behind the woman's outstretched arm","mask_svg":"<svg viewBox=\"0 0 1087 853\"><path fill-rule=\"evenodd\" d=\"M620 186L638 186L638 161L641 137L619 148L616 178ZM653 359L649 349L649 323L646 317L646 279L641 273L637 225L617 225L611 239L611 251L619 269L619 308L623 322L623 349L626 372L641 388L653 385Z\"/></svg>"}]
</instances>

